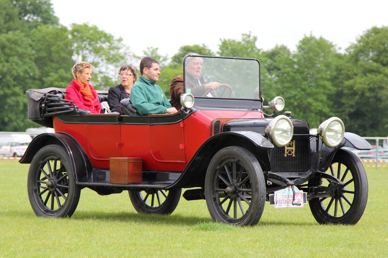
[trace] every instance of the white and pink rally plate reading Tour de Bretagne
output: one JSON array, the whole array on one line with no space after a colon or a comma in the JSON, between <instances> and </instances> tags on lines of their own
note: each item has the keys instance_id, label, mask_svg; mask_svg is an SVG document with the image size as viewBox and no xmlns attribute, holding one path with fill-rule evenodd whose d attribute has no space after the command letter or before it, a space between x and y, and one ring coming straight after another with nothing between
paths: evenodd
<instances>
[{"instance_id":1,"label":"white and pink rally plate reading Tour de Bretagne","mask_svg":"<svg viewBox=\"0 0 388 258\"><path fill-rule=\"evenodd\" d=\"M304 204L307 203L306 193L300 191L296 186L294 186L294 191L294 204L293 191L291 186L289 186L270 194L270 205L274 205L275 208L303 208Z\"/></svg>"}]
</instances>

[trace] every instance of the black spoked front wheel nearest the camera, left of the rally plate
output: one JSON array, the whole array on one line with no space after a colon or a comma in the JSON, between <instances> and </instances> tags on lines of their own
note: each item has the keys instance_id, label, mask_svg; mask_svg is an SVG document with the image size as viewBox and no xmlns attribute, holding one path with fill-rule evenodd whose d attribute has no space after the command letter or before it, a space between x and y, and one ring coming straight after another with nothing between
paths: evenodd
<instances>
[{"instance_id":1,"label":"black spoked front wheel nearest the camera, left of the rally plate","mask_svg":"<svg viewBox=\"0 0 388 258\"><path fill-rule=\"evenodd\" d=\"M215 222L256 225L265 205L264 175L256 157L238 146L218 151L206 172L205 198Z\"/></svg>"}]
</instances>

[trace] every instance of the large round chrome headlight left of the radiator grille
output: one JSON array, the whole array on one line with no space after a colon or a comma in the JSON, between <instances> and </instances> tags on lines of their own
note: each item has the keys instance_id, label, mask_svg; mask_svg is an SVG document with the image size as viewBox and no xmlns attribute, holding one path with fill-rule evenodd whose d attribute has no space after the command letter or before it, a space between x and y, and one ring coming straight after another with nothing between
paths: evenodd
<instances>
[{"instance_id":1,"label":"large round chrome headlight left of the radiator grille","mask_svg":"<svg viewBox=\"0 0 388 258\"><path fill-rule=\"evenodd\" d=\"M285 115L275 117L265 129L268 137L277 146L286 146L294 135L294 126L291 120Z\"/></svg>"}]
</instances>

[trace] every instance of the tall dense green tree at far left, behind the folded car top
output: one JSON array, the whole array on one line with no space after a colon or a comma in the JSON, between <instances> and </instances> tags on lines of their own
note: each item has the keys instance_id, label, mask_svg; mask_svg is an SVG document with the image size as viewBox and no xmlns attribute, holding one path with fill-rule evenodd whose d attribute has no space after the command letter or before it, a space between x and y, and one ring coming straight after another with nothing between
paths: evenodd
<instances>
[{"instance_id":1,"label":"tall dense green tree at far left, behind the folded car top","mask_svg":"<svg viewBox=\"0 0 388 258\"><path fill-rule=\"evenodd\" d=\"M58 19L48 0L0 0L0 5L0 103L4 110L0 131L24 131L36 126L27 119L25 91L45 87L44 82L50 76L57 81L58 71L53 65L64 63L62 57L54 58L56 64L50 58L61 55L55 47L61 43L57 41L60 37L49 33L53 29L49 26L56 26ZM43 24L48 25L47 29L37 33L36 28ZM41 73L42 67L50 74Z\"/></svg>"}]
</instances>

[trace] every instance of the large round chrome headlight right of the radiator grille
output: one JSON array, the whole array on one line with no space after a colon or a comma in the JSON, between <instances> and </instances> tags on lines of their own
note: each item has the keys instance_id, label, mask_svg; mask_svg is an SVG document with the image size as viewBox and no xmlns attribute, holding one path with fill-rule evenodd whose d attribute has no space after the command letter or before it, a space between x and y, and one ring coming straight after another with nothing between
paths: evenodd
<instances>
[{"instance_id":1,"label":"large round chrome headlight right of the radiator grille","mask_svg":"<svg viewBox=\"0 0 388 258\"><path fill-rule=\"evenodd\" d=\"M318 133L327 147L340 145L345 134L345 126L338 117L331 117L318 127Z\"/></svg>"}]
</instances>

